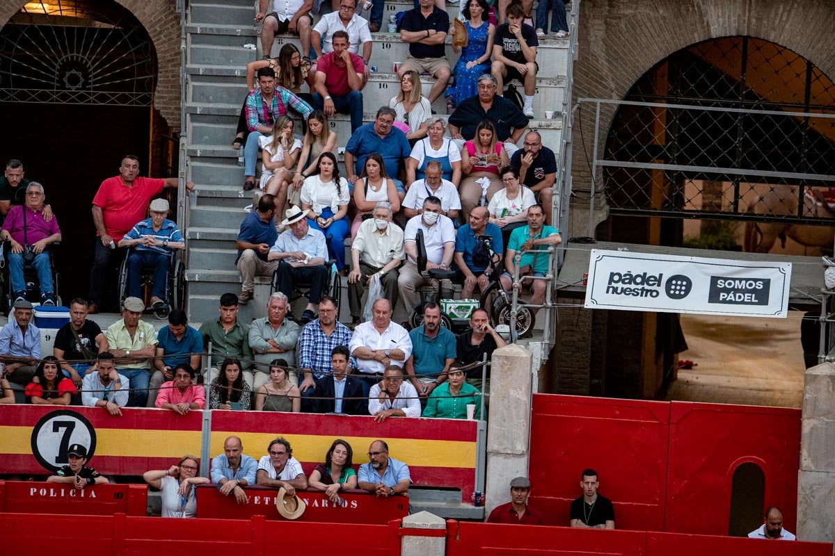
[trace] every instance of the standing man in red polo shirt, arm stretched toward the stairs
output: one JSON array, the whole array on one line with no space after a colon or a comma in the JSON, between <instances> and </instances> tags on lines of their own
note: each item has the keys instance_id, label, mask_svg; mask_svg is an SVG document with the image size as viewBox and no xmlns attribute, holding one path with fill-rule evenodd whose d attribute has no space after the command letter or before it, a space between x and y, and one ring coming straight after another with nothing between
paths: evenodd
<instances>
[{"instance_id":1,"label":"standing man in red polo shirt, arm stretched toward the stairs","mask_svg":"<svg viewBox=\"0 0 835 556\"><path fill-rule=\"evenodd\" d=\"M134 224L145 218L145 210L151 199L159 195L163 188L177 188L177 178L140 178L139 158L133 154L122 157L119 175L107 178L99 186L93 198L93 223L96 226L93 268L90 271L89 311L99 312L99 305L104 300L110 263L114 257L124 258L124 249L115 248L116 243ZM194 182L185 184L185 190L191 191Z\"/></svg>"}]
</instances>

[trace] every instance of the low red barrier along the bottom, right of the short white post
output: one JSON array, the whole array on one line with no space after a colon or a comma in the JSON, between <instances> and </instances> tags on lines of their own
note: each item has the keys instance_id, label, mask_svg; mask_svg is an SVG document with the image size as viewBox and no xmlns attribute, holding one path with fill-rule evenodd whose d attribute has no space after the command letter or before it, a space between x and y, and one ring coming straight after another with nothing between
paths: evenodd
<instances>
[{"instance_id":1,"label":"low red barrier along the bottom, right of the short white post","mask_svg":"<svg viewBox=\"0 0 835 556\"><path fill-rule=\"evenodd\" d=\"M526 556L832 556L832 543L770 542L736 538L601 531L535 525L448 522L447 556L525 554Z\"/></svg>"}]
</instances>

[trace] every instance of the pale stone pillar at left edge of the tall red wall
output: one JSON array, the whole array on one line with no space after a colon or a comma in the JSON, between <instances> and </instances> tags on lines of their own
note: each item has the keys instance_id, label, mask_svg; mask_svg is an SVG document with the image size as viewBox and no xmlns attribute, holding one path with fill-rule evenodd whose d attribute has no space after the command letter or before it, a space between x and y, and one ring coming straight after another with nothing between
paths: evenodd
<instances>
[{"instance_id":1,"label":"pale stone pillar at left edge of the tall red wall","mask_svg":"<svg viewBox=\"0 0 835 556\"><path fill-rule=\"evenodd\" d=\"M512 478L528 476L532 361L515 343L493 352L485 515L508 501Z\"/></svg>"}]
</instances>

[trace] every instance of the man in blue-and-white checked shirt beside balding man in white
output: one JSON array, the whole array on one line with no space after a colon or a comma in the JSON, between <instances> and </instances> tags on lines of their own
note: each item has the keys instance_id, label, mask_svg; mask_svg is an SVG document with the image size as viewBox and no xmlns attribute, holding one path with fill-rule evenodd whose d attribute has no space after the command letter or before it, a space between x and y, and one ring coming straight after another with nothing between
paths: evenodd
<instances>
[{"instance_id":1,"label":"man in blue-and-white checked shirt beside balding man in white","mask_svg":"<svg viewBox=\"0 0 835 556\"><path fill-rule=\"evenodd\" d=\"M301 328L299 337L299 368L304 379L299 384L301 390L301 410L311 412L313 404L310 396L316 384L322 378L331 378L331 354L333 348L351 343L351 330L337 320L339 308L337 302L326 295L319 300L319 318L311 320ZM356 368L357 362L350 358L349 367Z\"/></svg>"}]
</instances>

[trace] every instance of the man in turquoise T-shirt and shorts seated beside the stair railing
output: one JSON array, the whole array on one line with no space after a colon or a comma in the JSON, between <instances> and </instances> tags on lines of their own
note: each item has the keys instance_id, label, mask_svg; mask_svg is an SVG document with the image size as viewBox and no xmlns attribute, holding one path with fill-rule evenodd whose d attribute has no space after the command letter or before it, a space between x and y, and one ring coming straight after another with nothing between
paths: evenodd
<instances>
[{"instance_id":1,"label":"man in turquoise T-shirt and shorts seated beside the stair railing","mask_svg":"<svg viewBox=\"0 0 835 556\"><path fill-rule=\"evenodd\" d=\"M534 276L544 276L549 269L549 254L546 249L550 245L557 246L563 243L559 237L559 230L552 226L544 225L545 211L542 205L535 204L528 208L528 225L523 228L516 228L510 233L507 251L504 253L504 268L507 272L502 274L500 280L502 289L508 291L513 288L514 263L517 251L530 251L535 248L542 253L524 253L519 262L519 276L523 270L529 267L533 270ZM523 285L531 292L530 304L541 305L545 300L545 290L548 283L545 280L525 280ZM535 309L534 309L535 312Z\"/></svg>"}]
</instances>

